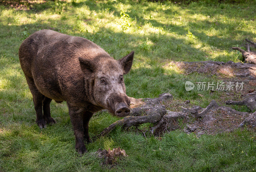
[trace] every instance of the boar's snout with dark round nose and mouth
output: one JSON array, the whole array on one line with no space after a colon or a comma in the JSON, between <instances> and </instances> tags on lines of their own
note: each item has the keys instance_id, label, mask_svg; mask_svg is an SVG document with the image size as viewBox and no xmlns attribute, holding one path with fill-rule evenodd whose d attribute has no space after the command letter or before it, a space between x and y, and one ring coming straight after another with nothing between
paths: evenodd
<instances>
[{"instance_id":1,"label":"boar's snout with dark round nose and mouth","mask_svg":"<svg viewBox=\"0 0 256 172\"><path fill-rule=\"evenodd\" d=\"M124 98L125 100L122 100L121 102L117 101L118 99L112 99L112 101L110 99L107 100L107 104L108 104L108 110L110 113L112 113L115 116L119 116L119 117L124 117L124 116L128 116L130 115L130 108L128 107L128 105L130 104L130 100L129 98L126 96ZM120 100L120 98L119 98Z\"/></svg>"}]
</instances>

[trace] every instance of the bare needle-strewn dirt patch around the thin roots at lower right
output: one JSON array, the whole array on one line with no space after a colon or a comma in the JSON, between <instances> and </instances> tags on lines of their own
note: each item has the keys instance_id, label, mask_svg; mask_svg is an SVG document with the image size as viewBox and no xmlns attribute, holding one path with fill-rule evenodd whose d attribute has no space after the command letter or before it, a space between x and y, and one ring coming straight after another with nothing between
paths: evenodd
<instances>
[{"instance_id":1,"label":"bare needle-strewn dirt patch around the thin roots at lower right","mask_svg":"<svg viewBox=\"0 0 256 172\"><path fill-rule=\"evenodd\" d=\"M203 111L205 113L198 116ZM188 114L184 122L186 124L184 131L186 133L194 132L197 136L233 131L249 115L248 112L239 112L226 106L219 106L214 100L207 108L193 106L192 108L184 108L183 112ZM253 125L254 122L252 121L249 127L253 128Z\"/></svg>"}]
</instances>

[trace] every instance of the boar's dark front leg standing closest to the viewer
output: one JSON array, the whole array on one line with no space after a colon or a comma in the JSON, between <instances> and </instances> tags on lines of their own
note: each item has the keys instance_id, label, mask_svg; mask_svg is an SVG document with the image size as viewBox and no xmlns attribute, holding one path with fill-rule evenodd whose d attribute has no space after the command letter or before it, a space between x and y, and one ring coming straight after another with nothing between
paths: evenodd
<instances>
[{"instance_id":1,"label":"boar's dark front leg standing closest to the viewer","mask_svg":"<svg viewBox=\"0 0 256 172\"><path fill-rule=\"evenodd\" d=\"M84 126L83 126L83 115L84 110L81 110L77 107L70 107L68 106L68 113L70 116L70 121L73 126L73 130L76 137L76 150L77 152L82 155L83 153L87 152L87 149L84 145Z\"/></svg>"}]
</instances>

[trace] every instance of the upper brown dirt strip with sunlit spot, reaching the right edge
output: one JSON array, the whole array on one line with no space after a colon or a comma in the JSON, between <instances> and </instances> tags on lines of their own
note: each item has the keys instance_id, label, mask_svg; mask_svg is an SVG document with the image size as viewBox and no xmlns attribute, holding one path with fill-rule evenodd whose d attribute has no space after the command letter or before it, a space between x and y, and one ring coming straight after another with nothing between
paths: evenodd
<instances>
[{"instance_id":1,"label":"upper brown dirt strip with sunlit spot, reaching the right edge","mask_svg":"<svg viewBox=\"0 0 256 172\"><path fill-rule=\"evenodd\" d=\"M236 95L240 95L241 99L247 98L248 93L252 93L256 90L256 64L248 63L234 63L229 61L215 62L215 61L203 61L203 62L170 62L166 64L177 66L185 75L196 73L205 74L206 77L217 76L223 82L243 82L242 90L229 90L223 92L221 95L222 100L236 100ZM215 91L215 90L213 90Z\"/></svg>"}]
</instances>

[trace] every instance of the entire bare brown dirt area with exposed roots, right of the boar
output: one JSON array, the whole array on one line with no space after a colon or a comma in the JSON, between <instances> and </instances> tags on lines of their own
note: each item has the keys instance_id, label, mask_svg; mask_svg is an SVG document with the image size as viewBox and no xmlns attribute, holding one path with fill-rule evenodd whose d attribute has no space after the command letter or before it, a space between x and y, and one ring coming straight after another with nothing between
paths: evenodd
<instances>
[{"instance_id":1,"label":"entire bare brown dirt area with exposed roots, right of the boar","mask_svg":"<svg viewBox=\"0 0 256 172\"><path fill-rule=\"evenodd\" d=\"M121 120L116 121L104 129L98 136L104 136L122 126L128 129L135 126L136 129L146 134L161 136L164 132L170 132L182 128L186 133L194 132L197 136L202 134L216 134L221 132L233 131L239 127L248 126L248 129L256 129L256 65L234 62L172 62L167 65L176 65L186 74L193 72L204 73L206 75L216 75L222 80L244 82L246 90L242 94L242 101L229 100L226 104L245 105L254 113L240 112L227 106L219 106L214 100L206 107L191 106L190 101L179 102L173 100L169 93L160 94L157 98L134 99L131 98L132 113ZM222 78L223 77L223 78ZM230 77L230 78L229 78ZM232 78L231 78L232 77ZM234 99L237 91L222 95ZM176 109L169 111L167 109ZM181 111L180 111L181 110ZM139 130L138 126L143 123L153 123L149 129Z\"/></svg>"}]
</instances>

